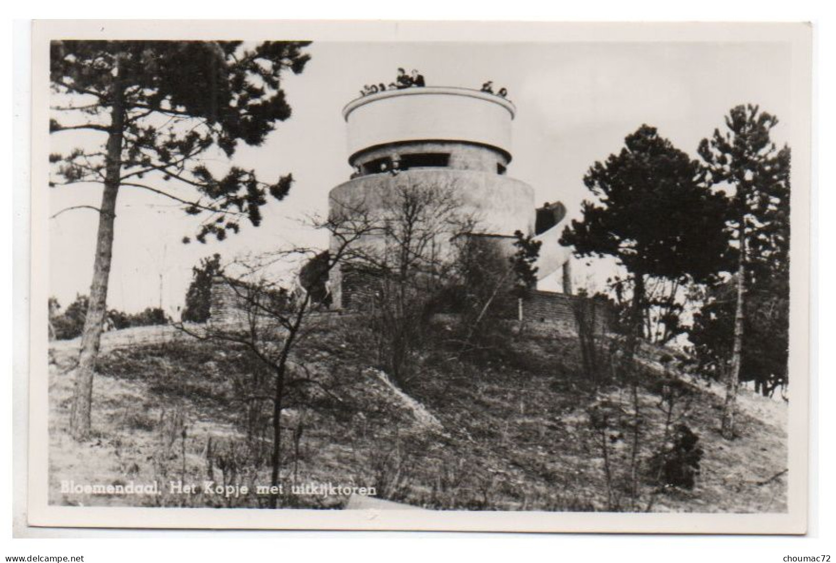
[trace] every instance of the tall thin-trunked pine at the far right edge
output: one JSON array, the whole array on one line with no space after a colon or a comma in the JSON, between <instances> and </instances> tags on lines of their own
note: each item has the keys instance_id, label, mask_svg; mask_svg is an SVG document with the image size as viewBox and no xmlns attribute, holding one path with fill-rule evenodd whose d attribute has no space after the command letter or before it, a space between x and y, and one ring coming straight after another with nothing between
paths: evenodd
<instances>
[{"instance_id":1,"label":"tall thin-trunked pine at the far right edge","mask_svg":"<svg viewBox=\"0 0 836 563\"><path fill-rule=\"evenodd\" d=\"M757 105L738 105L726 116L726 131L715 129L699 148L706 181L724 194L731 192L727 227L737 255L732 359L721 425L726 439L734 437L748 288L757 276L788 268L790 150L786 145L778 149L770 138L777 123Z\"/></svg>"}]
</instances>

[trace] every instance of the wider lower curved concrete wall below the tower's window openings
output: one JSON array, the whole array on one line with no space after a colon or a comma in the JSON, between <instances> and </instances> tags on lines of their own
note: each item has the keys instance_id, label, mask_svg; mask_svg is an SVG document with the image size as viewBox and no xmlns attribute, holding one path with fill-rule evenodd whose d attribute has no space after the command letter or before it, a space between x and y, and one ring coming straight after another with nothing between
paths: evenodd
<instances>
[{"instance_id":1,"label":"wider lower curved concrete wall below the tower's window openings","mask_svg":"<svg viewBox=\"0 0 836 563\"><path fill-rule=\"evenodd\" d=\"M476 170L421 169L398 175L360 176L336 186L329 194L332 210L376 210L385 207L395 185L450 186L461 198L462 212L478 221L486 234L512 236L514 231L534 230L534 190L520 180Z\"/></svg>"}]
</instances>

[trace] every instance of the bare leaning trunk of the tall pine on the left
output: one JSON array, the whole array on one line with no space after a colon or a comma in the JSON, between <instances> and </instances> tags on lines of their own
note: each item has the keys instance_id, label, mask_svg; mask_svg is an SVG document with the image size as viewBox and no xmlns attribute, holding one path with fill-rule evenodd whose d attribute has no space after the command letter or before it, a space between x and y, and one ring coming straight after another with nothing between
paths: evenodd
<instances>
[{"instance_id":1,"label":"bare leaning trunk of the tall pine on the left","mask_svg":"<svg viewBox=\"0 0 836 563\"><path fill-rule=\"evenodd\" d=\"M122 107L123 87L117 79L113 86L113 105L110 111L110 133L105 157L104 190L99 208L99 231L96 236L96 256L93 265L93 282L84 331L81 334L79 367L75 372L73 406L70 410L69 430L77 440L90 435L90 408L93 402L93 373L99 356L99 343L107 312L108 278L113 256L116 196L119 194L122 167L122 137L125 114Z\"/></svg>"}]
</instances>

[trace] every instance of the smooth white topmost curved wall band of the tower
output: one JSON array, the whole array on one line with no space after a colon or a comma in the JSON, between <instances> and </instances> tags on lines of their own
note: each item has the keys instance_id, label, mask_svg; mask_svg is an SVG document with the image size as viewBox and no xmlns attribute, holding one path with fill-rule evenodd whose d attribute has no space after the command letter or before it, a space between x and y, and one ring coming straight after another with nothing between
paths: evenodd
<instances>
[{"instance_id":1,"label":"smooth white topmost curved wall band of the tower","mask_svg":"<svg viewBox=\"0 0 836 563\"><path fill-rule=\"evenodd\" d=\"M345 106L349 162L363 150L404 141L453 140L488 145L510 160L514 106L464 88L387 90Z\"/></svg>"}]
</instances>

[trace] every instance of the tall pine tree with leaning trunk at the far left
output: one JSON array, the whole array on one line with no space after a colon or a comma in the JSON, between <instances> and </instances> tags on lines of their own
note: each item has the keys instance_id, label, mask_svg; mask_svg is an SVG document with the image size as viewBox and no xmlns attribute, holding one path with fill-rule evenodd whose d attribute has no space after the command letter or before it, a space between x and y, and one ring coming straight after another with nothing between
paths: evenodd
<instances>
[{"instance_id":1,"label":"tall pine tree with leaning trunk at the far left","mask_svg":"<svg viewBox=\"0 0 836 563\"><path fill-rule=\"evenodd\" d=\"M70 430L90 432L93 373L106 312L116 200L123 188L148 190L202 216L198 241L236 233L242 220L261 223L267 195L288 193L292 177L274 183L252 170L216 175L206 157L231 157L239 142L260 145L290 117L281 76L301 73L308 43L55 41L50 79L54 134L84 132L87 148L51 155L50 185L98 183L93 282L76 371ZM93 148L90 148L93 147ZM184 238L184 241L189 241Z\"/></svg>"}]
</instances>

